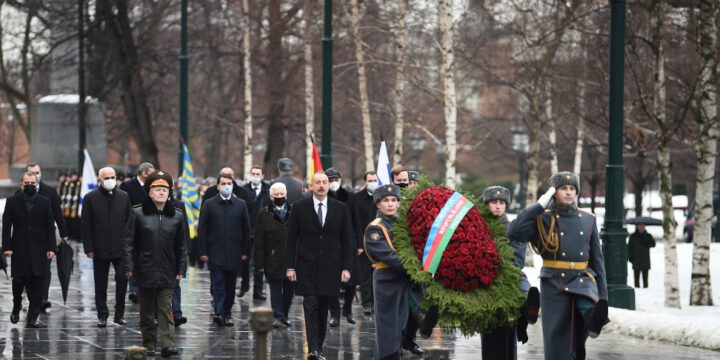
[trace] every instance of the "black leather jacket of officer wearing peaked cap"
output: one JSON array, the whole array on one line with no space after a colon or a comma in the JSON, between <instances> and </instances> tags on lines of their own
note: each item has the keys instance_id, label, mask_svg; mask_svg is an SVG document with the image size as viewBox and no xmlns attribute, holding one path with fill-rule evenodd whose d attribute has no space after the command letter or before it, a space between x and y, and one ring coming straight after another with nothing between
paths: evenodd
<instances>
[{"instance_id":1,"label":"black leather jacket of officer wearing peaked cap","mask_svg":"<svg viewBox=\"0 0 720 360\"><path fill-rule=\"evenodd\" d=\"M125 273L141 288L175 288L187 268L185 220L171 202L158 210L150 198L134 206L125 230Z\"/></svg>"}]
</instances>

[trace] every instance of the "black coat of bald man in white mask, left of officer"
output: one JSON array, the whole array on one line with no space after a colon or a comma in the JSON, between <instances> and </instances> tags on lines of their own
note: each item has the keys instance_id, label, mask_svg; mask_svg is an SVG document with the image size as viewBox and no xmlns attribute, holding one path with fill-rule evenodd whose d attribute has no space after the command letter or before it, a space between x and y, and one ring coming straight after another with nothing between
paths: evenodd
<instances>
[{"instance_id":1,"label":"black coat of bald man in white mask, left of officer","mask_svg":"<svg viewBox=\"0 0 720 360\"><path fill-rule=\"evenodd\" d=\"M114 190L112 195L104 188L87 193L81 232L85 253L95 253L96 259L122 258L130 209L130 197L122 190Z\"/></svg>"}]
</instances>

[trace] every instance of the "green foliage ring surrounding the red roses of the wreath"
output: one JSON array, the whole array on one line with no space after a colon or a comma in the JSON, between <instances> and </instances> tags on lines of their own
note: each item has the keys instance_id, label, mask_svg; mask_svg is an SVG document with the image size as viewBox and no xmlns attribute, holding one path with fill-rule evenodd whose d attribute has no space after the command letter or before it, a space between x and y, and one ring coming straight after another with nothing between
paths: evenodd
<instances>
[{"instance_id":1,"label":"green foliage ring surrounding the red roses of the wreath","mask_svg":"<svg viewBox=\"0 0 720 360\"><path fill-rule=\"evenodd\" d=\"M485 206L478 206L478 200L469 193L462 193L475 204L495 239L495 248L500 255L500 271L488 287L479 287L468 292L445 288L433 280L430 273L422 268L408 232L407 213L410 203L428 187L435 186L427 178L421 178L416 186L403 190L398 211L398 221L393 227L396 252L410 278L425 288L421 307L427 309L436 304L439 309L438 324L446 330L459 330L464 336L472 336L501 326L512 326L520 316L520 307L525 297L520 291L520 270L512 263L514 253L507 238L505 226ZM451 240L452 241L452 240Z\"/></svg>"}]
</instances>

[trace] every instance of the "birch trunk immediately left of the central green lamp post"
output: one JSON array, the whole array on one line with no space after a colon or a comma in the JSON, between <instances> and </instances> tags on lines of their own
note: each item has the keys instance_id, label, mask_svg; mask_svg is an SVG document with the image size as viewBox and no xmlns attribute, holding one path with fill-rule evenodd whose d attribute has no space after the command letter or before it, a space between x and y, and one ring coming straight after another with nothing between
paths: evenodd
<instances>
[{"instance_id":1,"label":"birch trunk immediately left of the central green lamp post","mask_svg":"<svg viewBox=\"0 0 720 360\"><path fill-rule=\"evenodd\" d=\"M313 1L305 2L303 11L303 60L305 62L305 159L307 160L305 173L309 178L310 159L312 159L313 132L315 131L315 82L313 79L312 61L312 24L314 23L312 9Z\"/></svg>"}]
</instances>

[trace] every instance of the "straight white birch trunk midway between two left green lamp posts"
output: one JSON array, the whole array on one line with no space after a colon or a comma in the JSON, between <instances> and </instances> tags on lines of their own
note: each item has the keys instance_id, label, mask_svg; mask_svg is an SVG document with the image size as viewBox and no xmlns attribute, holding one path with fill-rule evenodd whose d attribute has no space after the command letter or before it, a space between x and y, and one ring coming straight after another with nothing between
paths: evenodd
<instances>
[{"instance_id":1,"label":"straight white birch trunk midway between two left green lamp posts","mask_svg":"<svg viewBox=\"0 0 720 360\"><path fill-rule=\"evenodd\" d=\"M252 63L250 62L250 5L248 0L243 0L243 67L245 70L245 131L243 133L243 175L245 179L250 176L253 166L252 160Z\"/></svg>"}]
</instances>

